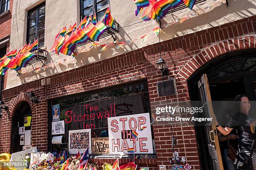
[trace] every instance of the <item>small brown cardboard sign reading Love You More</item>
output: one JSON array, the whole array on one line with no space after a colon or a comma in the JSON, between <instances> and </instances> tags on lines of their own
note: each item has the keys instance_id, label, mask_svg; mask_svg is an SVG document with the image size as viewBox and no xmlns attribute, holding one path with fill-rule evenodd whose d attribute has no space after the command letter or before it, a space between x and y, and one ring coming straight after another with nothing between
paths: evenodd
<instances>
[{"instance_id":1,"label":"small brown cardboard sign reading Love You More","mask_svg":"<svg viewBox=\"0 0 256 170\"><path fill-rule=\"evenodd\" d=\"M95 154L109 153L108 137L92 138L92 153L95 153Z\"/></svg>"}]
</instances>

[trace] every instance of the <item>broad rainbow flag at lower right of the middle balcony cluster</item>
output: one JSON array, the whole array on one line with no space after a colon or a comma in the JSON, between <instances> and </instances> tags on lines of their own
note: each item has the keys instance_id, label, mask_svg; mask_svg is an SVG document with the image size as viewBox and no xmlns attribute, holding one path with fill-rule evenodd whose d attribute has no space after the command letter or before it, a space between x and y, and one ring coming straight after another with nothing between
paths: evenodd
<instances>
[{"instance_id":1,"label":"broad rainbow flag at lower right of the middle balcony cluster","mask_svg":"<svg viewBox=\"0 0 256 170\"><path fill-rule=\"evenodd\" d=\"M99 41L100 35L102 35L105 32L105 30L107 30L106 25L103 24L101 21L97 22L96 25L90 23L86 27L91 28L87 33L88 37L95 41Z\"/></svg>"}]
</instances>

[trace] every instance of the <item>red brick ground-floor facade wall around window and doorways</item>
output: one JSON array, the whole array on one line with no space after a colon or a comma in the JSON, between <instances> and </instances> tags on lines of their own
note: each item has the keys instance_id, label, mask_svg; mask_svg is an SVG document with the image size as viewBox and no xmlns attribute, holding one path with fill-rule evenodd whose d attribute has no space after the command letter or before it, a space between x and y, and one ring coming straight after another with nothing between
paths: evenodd
<instances>
[{"instance_id":1,"label":"red brick ground-floor facade wall around window and doorways","mask_svg":"<svg viewBox=\"0 0 256 170\"><path fill-rule=\"evenodd\" d=\"M4 90L4 101L8 103L10 109L3 114L0 153L10 150L11 117L18 102L22 100L29 102L33 113L32 121L35 122L36 120L36 125L32 125L32 145L46 151L48 99L146 78L151 112L154 113L156 107L166 105L167 100L169 103L177 100L189 100L187 78L210 59L234 50L255 48L255 28L256 16L253 16L161 42L161 55L167 62L170 71L169 77L176 80L177 95L158 97L156 83L162 81L161 72L156 66L156 60L160 55L158 43L52 75L48 77L51 78L51 85L49 86L41 87L40 80L35 80ZM28 100L24 92L30 91L41 97L39 104L32 105ZM169 161L172 157L172 135L177 138L177 146L174 150L179 152L180 157L186 157L187 163L192 166L192 169L199 170L200 159L195 127L180 124L174 125L174 134L172 134L170 125L154 126L158 158L136 160L139 166L157 169L157 165L166 165L167 169L171 169ZM105 160L90 161L102 164ZM111 161L113 163L113 160ZM122 163L128 161L131 160L121 160Z\"/></svg>"}]
</instances>

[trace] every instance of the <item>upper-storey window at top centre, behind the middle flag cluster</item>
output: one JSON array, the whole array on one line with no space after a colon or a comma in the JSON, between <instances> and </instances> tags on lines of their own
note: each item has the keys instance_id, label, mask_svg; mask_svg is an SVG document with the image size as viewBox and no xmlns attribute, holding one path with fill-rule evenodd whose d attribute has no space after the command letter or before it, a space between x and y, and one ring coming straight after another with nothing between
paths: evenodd
<instances>
[{"instance_id":1,"label":"upper-storey window at top centre, behind the middle flag cluster","mask_svg":"<svg viewBox=\"0 0 256 170\"><path fill-rule=\"evenodd\" d=\"M97 20L101 20L105 11L109 7L109 0L81 0L81 15L88 18L96 13Z\"/></svg>"}]
</instances>

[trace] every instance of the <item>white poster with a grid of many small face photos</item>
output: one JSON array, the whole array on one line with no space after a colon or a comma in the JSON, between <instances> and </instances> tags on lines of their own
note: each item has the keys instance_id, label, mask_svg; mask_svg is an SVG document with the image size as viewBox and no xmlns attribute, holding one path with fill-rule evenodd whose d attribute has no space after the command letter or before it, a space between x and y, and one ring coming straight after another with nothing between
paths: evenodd
<instances>
[{"instance_id":1,"label":"white poster with a grid of many small face photos","mask_svg":"<svg viewBox=\"0 0 256 170\"><path fill-rule=\"evenodd\" d=\"M84 153L87 148L92 153L91 129L69 130L69 154Z\"/></svg>"}]
</instances>

